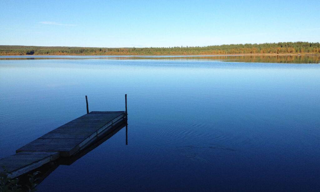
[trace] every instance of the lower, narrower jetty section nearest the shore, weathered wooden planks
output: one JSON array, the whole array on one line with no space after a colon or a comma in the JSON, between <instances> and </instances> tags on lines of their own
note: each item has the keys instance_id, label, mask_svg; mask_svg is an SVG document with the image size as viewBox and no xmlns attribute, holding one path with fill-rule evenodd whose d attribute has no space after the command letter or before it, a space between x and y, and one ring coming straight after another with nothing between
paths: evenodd
<instances>
[{"instance_id":1,"label":"lower, narrower jetty section nearest the shore, weathered wooden planks","mask_svg":"<svg viewBox=\"0 0 320 192\"><path fill-rule=\"evenodd\" d=\"M17 177L58 158L59 152L56 151L24 151L0 159L0 172L3 172L2 166L4 165L6 173L11 173L10 177Z\"/></svg>"}]
</instances>

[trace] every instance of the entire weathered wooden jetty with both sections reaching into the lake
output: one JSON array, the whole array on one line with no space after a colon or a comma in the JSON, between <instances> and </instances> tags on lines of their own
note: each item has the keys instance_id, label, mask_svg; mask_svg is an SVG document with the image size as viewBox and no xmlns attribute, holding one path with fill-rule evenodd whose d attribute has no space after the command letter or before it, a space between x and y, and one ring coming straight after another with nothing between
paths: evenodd
<instances>
[{"instance_id":1,"label":"entire weathered wooden jetty with both sections reaching into the lake","mask_svg":"<svg viewBox=\"0 0 320 192\"><path fill-rule=\"evenodd\" d=\"M127 119L126 111L92 111L58 127L0 159L10 177L18 177L59 157L72 157L113 126ZM3 172L3 170L0 170Z\"/></svg>"}]
</instances>

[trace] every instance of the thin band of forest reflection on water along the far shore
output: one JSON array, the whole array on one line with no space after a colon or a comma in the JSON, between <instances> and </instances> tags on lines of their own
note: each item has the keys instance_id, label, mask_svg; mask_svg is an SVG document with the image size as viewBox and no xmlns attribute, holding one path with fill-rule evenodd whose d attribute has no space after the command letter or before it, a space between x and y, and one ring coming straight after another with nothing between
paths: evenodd
<instances>
[{"instance_id":1,"label":"thin band of forest reflection on water along the far shore","mask_svg":"<svg viewBox=\"0 0 320 192\"><path fill-rule=\"evenodd\" d=\"M28 59L105 59L105 60L209 60L244 63L293 63L319 64L318 55L245 55L245 56L3 56L0 60L28 60Z\"/></svg>"}]
</instances>

